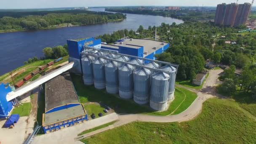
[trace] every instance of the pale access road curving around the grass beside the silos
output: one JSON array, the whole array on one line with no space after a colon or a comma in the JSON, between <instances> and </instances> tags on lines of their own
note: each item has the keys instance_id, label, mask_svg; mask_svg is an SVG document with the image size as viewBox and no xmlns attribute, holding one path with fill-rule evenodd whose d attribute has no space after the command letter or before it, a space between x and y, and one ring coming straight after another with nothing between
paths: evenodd
<instances>
[{"instance_id":1,"label":"pale access road curving around the grass beside the silos","mask_svg":"<svg viewBox=\"0 0 256 144\"><path fill-rule=\"evenodd\" d=\"M93 136L97 133L101 133L106 131L106 129L116 128L121 125L125 125L134 121L141 122L157 122L157 123L170 123L170 122L184 122L194 119L197 115L200 114L203 102L207 99L216 97L216 85L219 84L218 77L220 73L223 72L222 69L210 70L209 77L205 81L202 90L197 91L193 89L189 89L190 91L197 91L197 98L195 101L184 111L178 115L171 116L153 116L153 115L139 115L139 114L127 114L127 115L119 115L119 121L114 123L110 127L102 128L97 131L93 131L91 133L87 133L86 136Z\"/></svg>"}]
</instances>

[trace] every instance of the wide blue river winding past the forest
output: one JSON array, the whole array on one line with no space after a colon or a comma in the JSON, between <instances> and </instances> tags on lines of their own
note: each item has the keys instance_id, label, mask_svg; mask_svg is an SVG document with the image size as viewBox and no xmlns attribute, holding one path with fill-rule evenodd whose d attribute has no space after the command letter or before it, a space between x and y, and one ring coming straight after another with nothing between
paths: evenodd
<instances>
[{"instance_id":1,"label":"wide blue river winding past the forest","mask_svg":"<svg viewBox=\"0 0 256 144\"><path fill-rule=\"evenodd\" d=\"M104 8L94 8L91 11L104 11ZM144 28L160 26L161 23L183 23L182 20L163 16L128 14L127 19L104 24L91 24L77 27L63 27L37 31L22 31L0 33L0 75L21 67L24 61L37 56L43 57L43 48L64 45L68 39L96 37L105 33L111 34L120 29Z\"/></svg>"}]
</instances>

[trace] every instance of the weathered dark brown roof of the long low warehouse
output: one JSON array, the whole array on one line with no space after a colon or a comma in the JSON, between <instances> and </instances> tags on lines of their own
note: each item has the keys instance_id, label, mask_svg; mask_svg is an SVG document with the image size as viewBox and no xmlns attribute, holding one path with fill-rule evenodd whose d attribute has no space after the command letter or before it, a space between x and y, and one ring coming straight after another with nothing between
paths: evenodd
<instances>
[{"instance_id":1,"label":"weathered dark brown roof of the long low warehouse","mask_svg":"<svg viewBox=\"0 0 256 144\"><path fill-rule=\"evenodd\" d=\"M80 102L69 72L64 72L45 84L45 112L71 103Z\"/></svg>"}]
</instances>

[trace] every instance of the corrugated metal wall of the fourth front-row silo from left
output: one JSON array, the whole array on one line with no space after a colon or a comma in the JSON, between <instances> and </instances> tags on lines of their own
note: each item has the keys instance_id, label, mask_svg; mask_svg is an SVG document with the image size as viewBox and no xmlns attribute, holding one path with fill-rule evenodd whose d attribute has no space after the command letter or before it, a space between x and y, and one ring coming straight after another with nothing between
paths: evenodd
<instances>
[{"instance_id":1,"label":"corrugated metal wall of the fourth front-row silo from left","mask_svg":"<svg viewBox=\"0 0 256 144\"><path fill-rule=\"evenodd\" d=\"M118 70L119 75L119 91L129 92L133 91L133 72L131 69L122 69L128 67L127 65L121 66Z\"/></svg>"}]
</instances>

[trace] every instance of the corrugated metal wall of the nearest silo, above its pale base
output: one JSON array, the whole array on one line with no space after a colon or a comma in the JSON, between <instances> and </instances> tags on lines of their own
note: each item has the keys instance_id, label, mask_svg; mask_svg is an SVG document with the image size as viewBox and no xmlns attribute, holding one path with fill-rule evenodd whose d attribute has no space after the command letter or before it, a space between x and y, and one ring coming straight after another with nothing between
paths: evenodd
<instances>
[{"instance_id":1,"label":"corrugated metal wall of the nearest silo, above its pale base","mask_svg":"<svg viewBox=\"0 0 256 144\"><path fill-rule=\"evenodd\" d=\"M163 77L163 75L159 72L156 73L156 75ZM168 80L157 80L151 77L150 100L158 103L168 101L168 87Z\"/></svg>"}]
</instances>

